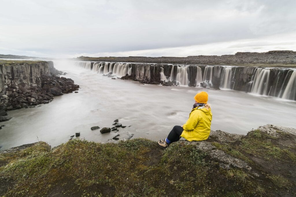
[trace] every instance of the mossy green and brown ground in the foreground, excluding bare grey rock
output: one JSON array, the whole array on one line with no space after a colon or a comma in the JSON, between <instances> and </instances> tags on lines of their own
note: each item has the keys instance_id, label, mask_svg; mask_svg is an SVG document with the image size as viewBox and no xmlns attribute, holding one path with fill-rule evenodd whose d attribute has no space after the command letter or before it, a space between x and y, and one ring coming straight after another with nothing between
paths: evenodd
<instances>
[{"instance_id":1,"label":"mossy green and brown ground in the foreground, excluding bare grey rock","mask_svg":"<svg viewBox=\"0 0 296 197\"><path fill-rule=\"evenodd\" d=\"M260 177L237 168L220 168L191 144L173 143L162 150L147 139L118 144L71 140L50 149L38 142L0 154L0 195L293 196L295 143L286 147L275 140L251 131L236 143L213 143L250 163ZM279 162L276 167L287 162L290 168L272 170L275 161Z\"/></svg>"}]
</instances>

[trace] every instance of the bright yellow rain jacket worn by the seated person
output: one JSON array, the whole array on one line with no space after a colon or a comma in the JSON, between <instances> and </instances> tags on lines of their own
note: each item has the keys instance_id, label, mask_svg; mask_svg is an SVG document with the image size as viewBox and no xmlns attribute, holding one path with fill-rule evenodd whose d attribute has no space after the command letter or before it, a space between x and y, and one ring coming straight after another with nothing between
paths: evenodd
<instances>
[{"instance_id":1,"label":"bright yellow rain jacket worn by the seated person","mask_svg":"<svg viewBox=\"0 0 296 197\"><path fill-rule=\"evenodd\" d=\"M181 137L188 141L201 141L209 137L211 131L212 112L205 107L191 110L189 119L183 125Z\"/></svg>"}]
</instances>

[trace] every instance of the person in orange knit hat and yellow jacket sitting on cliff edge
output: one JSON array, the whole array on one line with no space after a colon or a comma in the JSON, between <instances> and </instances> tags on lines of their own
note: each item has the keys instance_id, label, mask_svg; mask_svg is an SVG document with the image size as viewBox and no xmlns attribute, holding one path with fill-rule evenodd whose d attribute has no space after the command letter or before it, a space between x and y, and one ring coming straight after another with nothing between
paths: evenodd
<instances>
[{"instance_id":1,"label":"person in orange knit hat and yellow jacket sitting on cliff edge","mask_svg":"<svg viewBox=\"0 0 296 197\"><path fill-rule=\"evenodd\" d=\"M207 92L199 92L194 96L195 103L189 114L189 119L183 126L174 126L168 137L157 142L158 146L165 149L170 143L184 137L188 141L206 140L211 131L212 112L207 103Z\"/></svg>"}]
</instances>

